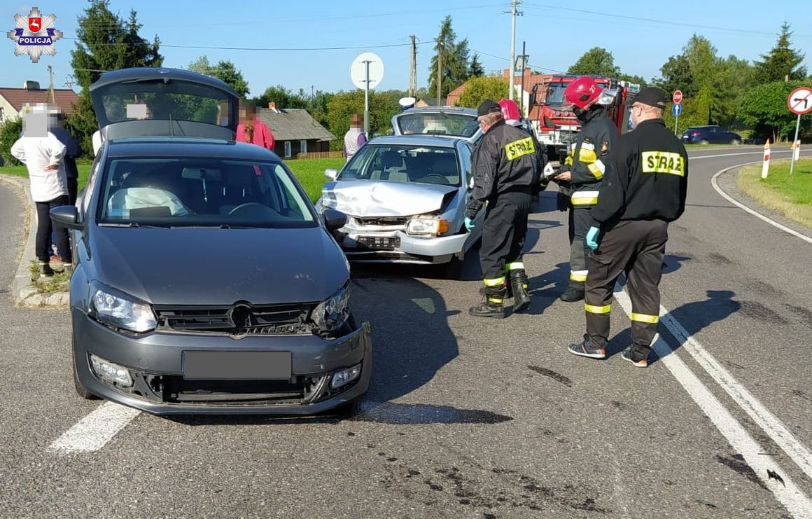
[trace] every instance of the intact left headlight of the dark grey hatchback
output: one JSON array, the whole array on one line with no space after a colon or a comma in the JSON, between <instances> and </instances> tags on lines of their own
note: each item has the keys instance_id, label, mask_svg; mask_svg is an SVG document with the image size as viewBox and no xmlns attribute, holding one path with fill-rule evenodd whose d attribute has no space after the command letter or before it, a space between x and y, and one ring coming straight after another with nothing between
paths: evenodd
<instances>
[{"instance_id":1,"label":"intact left headlight of the dark grey hatchback","mask_svg":"<svg viewBox=\"0 0 812 519\"><path fill-rule=\"evenodd\" d=\"M152 308L108 287L101 285L90 289L88 313L111 327L144 333L158 325Z\"/></svg>"}]
</instances>

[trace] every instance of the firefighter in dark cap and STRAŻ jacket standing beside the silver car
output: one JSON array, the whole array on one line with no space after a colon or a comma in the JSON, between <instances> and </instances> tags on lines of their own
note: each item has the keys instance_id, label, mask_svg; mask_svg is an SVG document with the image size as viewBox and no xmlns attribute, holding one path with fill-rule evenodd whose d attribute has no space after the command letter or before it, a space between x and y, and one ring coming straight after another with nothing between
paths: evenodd
<instances>
[{"instance_id":1,"label":"firefighter in dark cap and STRA\u017b jacket standing beside the silver car","mask_svg":"<svg viewBox=\"0 0 812 519\"><path fill-rule=\"evenodd\" d=\"M482 224L480 265L484 279L484 301L469 310L476 317L504 318L508 287L505 269L514 283L514 311L530 303L525 287L522 247L527 231L527 214L533 182L538 180L538 156L533 138L505 124L502 111L487 99L477 109L479 128L485 135L473 154L473 193L465 210L465 227L485 210ZM514 273L514 270L516 273ZM519 277L519 272L523 278Z\"/></svg>"}]
</instances>

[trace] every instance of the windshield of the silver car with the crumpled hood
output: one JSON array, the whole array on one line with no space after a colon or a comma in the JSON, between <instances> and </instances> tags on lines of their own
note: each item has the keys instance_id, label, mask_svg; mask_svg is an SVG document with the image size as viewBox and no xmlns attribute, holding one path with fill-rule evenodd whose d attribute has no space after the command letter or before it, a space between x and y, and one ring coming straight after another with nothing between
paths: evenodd
<instances>
[{"instance_id":1,"label":"windshield of the silver car with the crumpled hood","mask_svg":"<svg viewBox=\"0 0 812 519\"><path fill-rule=\"evenodd\" d=\"M460 167L452 148L365 145L341 171L339 180L459 186Z\"/></svg>"}]
</instances>

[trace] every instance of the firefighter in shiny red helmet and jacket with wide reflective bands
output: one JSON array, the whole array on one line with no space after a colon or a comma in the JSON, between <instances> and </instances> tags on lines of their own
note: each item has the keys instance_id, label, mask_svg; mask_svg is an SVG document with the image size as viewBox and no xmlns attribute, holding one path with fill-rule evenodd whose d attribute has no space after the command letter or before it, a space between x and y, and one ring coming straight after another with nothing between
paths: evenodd
<instances>
[{"instance_id":1,"label":"firefighter in shiny red helmet and jacket with wide reflective bands","mask_svg":"<svg viewBox=\"0 0 812 519\"><path fill-rule=\"evenodd\" d=\"M603 179L602 158L615 147L617 128L602 106L603 89L589 76L572 81L564 90L564 98L581 121L581 131L570 145L568 157L555 176L555 181L569 196L569 283L561 301L581 301L584 298L586 268L586 231L592 219L590 209L598 203L598 187ZM559 197L560 198L560 197Z\"/></svg>"}]
</instances>

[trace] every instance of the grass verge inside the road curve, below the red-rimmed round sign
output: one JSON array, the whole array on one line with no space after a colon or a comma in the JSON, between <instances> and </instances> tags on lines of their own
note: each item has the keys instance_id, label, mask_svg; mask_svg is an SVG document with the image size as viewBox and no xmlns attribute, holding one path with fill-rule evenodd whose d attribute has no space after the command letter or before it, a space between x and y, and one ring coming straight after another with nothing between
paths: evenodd
<instances>
[{"instance_id":1,"label":"grass verge inside the road curve, below the red-rimmed round sign","mask_svg":"<svg viewBox=\"0 0 812 519\"><path fill-rule=\"evenodd\" d=\"M789 175L789 161L771 162L767 179L760 164L741 168L736 185L759 204L776 210L793 222L812 228L812 159L795 162Z\"/></svg>"}]
</instances>

